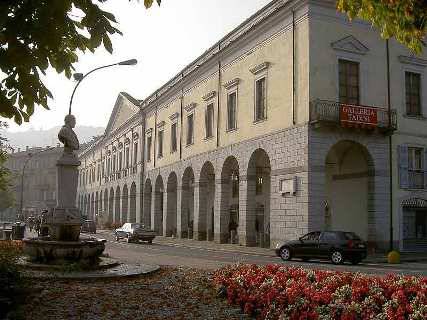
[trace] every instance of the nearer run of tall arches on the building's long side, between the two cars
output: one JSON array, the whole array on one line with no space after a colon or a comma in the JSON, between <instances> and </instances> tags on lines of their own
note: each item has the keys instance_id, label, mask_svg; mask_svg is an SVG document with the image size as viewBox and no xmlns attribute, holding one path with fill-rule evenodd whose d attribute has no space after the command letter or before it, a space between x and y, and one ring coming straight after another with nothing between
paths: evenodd
<instances>
[{"instance_id":1,"label":"nearer run of tall arches on the building's long side, between the two cars","mask_svg":"<svg viewBox=\"0 0 427 320\"><path fill-rule=\"evenodd\" d=\"M256 150L245 179L241 172L238 160L230 156L217 170L206 161L200 172L189 166L182 174L147 178L142 220L167 237L269 247L269 156Z\"/></svg>"}]
</instances>

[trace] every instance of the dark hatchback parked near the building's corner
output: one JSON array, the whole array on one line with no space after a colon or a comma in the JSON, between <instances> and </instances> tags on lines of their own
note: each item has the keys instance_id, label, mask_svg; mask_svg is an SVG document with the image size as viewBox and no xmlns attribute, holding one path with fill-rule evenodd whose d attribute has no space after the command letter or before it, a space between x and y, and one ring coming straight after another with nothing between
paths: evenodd
<instances>
[{"instance_id":1,"label":"dark hatchback parked near the building's corner","mask_svg":"<svg viewBox=\"0 0 427 320\"><path fill-rule=\"evenodd\" d=\"M350 261L358 264L366 258L367 246L354 232L347 231L314 231L298 240L288 241L276 246L276 254L282 260L302 258L330 259L333 264Z\"/></svg>"}]
</instances>

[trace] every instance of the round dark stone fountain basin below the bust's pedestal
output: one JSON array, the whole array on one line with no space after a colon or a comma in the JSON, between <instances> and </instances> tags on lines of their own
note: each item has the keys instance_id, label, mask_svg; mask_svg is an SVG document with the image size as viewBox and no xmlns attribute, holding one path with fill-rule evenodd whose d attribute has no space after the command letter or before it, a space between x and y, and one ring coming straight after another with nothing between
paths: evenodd
<instances>
[{"instance_id":1,"label":"round dark stone fountain basin below the bust's pedestal","mask_svg":"<svg viewBox=\"0 0 427 320\"><path fill-rule=\"evenodd\" d=\"M33 262L62 264L95 261L105 250L106 240L95 238L79 241L55 241L49 237L23 240L23 250Z\"/></svg>"}]
</instances>

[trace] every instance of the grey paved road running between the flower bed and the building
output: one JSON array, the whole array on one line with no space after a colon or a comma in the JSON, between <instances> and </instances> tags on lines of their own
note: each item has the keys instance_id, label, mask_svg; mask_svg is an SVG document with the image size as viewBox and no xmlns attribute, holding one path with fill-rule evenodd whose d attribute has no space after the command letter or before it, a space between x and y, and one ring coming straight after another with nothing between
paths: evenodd
<instances>
[{"instance_id":1,"label":"grey paved road running between the flower bed and the building","mask_svg":"<svg viewBox=\"0 0 427 320\"><path fill-rule=\"evenodd\" d=\"M332 265L326 261L291 261L283 262L280 258L256 253L242 253L224 251L221 249L189 247L181 244L159 244L151 245L145 243L126 243L114 241L112 233L102 233L99 238L107 240L106 253L112 258L117 258L126 263L146 263L171 266L188 266L196 268L215 269L226 264L236 262L254 263L265 265L279 263L284 265L302 266L304 268L343 270L371 274L403 273L407 275L427 276L427 263L402 263L400 265L361 263L357 266L345 264L341 266ZM171 240L172 242L172 240Z\"/></svg>"}]
</instances>

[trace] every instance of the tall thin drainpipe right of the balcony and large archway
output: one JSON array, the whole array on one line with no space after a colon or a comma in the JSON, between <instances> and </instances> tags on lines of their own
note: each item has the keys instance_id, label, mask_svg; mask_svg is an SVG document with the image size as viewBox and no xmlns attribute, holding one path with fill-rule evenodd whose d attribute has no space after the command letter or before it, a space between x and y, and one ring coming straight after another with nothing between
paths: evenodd
<instances>
[{"instance_id":1,"label":"tall thin drainpipe right of the balcony and large archway","mask_svg":"<svg viewBox=\"0 0 427 320\"><path fill-rule=\"evenodd\" d=\"M388 127L391 130L391 88L390 88L390 46L389 39L386 40L387 49L387 109L388 109ZM388 136L388 157L389 157L389 175L390 175L390 251L393 250L393 140L392 132Z\"/></svg>"}]
</instances>

